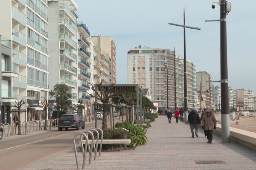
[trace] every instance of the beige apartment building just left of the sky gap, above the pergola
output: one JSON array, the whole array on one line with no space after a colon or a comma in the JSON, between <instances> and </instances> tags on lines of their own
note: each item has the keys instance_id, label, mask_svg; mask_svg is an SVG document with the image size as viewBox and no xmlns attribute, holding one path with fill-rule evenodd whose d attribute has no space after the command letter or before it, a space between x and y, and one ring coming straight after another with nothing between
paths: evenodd
<instances>
[{"instance_id":1,"label":"beige apartment building just left of the sky gap, above the pergola","mask_svg":"<svg viewBox=\"0 0 256 170\"><path fill-rule=\"evenodd\" d=\"M103 84L116 82L116 45L110 36L92 36L93 41L99 45L101 61L101 76ZM98 63L99 64L99 63Z\"/></svg>"}]
</instances>

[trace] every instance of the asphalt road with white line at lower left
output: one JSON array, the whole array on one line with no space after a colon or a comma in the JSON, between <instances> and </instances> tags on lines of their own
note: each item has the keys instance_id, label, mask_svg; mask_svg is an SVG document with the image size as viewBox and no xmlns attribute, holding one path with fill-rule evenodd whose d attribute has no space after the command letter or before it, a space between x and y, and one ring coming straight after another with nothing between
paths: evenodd
<instances>
[{"instance_id":1,"label":"asphalt road with white line at lower left","mask_svg":"<svg viewBox=\"0 0 256 170\"><path fill-rule=\"evenodd\" d=\"M119 122L119 117L115 119L115 122ZM107 120L108 127L110 127L110 119ZM102 121L98 120L98 127L102 126L101 123ZM93 127L94 122L86 122L85 130ZM27 164L72 147L74 134L81 131L84 130L58 131L55 128L51 131L45 130L27 135L3 137L0 141L0 169L17 170Z\"/></svg>"}]
</instances>

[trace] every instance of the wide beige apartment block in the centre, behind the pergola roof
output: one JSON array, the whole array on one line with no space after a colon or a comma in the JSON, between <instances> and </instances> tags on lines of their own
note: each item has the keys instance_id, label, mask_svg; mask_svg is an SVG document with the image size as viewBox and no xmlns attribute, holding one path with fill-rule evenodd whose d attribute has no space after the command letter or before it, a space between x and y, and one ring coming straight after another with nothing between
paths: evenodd
<instances>
[{"instance_id":1,"label":"wide beige apartment block in the centre, behind the pergola roof","mask_svg":"<svg viewBox=\"0 0 256 170\"><path fill-rule=\"evenodd\" d=\"M173 108L174 100L174 51L161 48L131 48L127 54L128 84L148 88L152 102L159 108ZM168 79L167 75L168 74Z\"/></svg>"}]
</instances>

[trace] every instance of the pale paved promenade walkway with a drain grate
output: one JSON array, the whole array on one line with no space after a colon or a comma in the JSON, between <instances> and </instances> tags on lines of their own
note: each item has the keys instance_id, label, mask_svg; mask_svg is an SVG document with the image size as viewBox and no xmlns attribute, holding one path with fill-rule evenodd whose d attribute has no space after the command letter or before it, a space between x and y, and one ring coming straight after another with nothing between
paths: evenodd
<instances>
[{"instance_id":1,"label":"pale paved promenade walkway with a drain grate","mask_svg":"<svg viewBox=\"0 0 256 170\"><path fill-rule=\"evenodd\" d=\"M159 116L147 131L148 143L135 150L102 152L101 157L86 164L86 170L256 170L256 152L231 142L221 144L220 136L213 136L207 144L202 129L199 138L191 138L189 125L168 123ZM88 157L88 156L87 156ZM79 153L80 165L82 156ZM225 161L225 164L196 164L195 161ZM81 168L81 166L80 166ZM20 170L74 170L73 148L64 150Z\"/></svg>"}]
</instances>

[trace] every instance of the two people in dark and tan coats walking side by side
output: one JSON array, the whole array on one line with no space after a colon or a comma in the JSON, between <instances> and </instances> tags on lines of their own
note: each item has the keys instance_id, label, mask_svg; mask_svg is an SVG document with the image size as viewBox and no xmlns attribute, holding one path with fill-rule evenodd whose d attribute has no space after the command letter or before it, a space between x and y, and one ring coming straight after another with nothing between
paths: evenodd
<instances>
[{"instance_id":1,"label":"two people in dark and tan coats walking side by side","mask_svg":"<svg viewBox=\"0 0 256 170\"><path fill-rule=\"evenodd\" d=\"M194 128L195 128L195 136L198 137L198 125L201 123L202 128L204 129L204 134L207 136L208 142L212 143L212 130L216 129L216 119L212 110L206 109L204 114L199 118L198 113L195 110L192 110L189 113L188 120L190 124L190 130L192 134L192 138L194 137Z\"/></svg>"}]
</instances>

